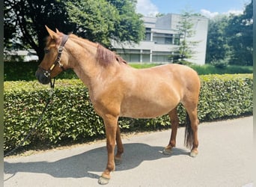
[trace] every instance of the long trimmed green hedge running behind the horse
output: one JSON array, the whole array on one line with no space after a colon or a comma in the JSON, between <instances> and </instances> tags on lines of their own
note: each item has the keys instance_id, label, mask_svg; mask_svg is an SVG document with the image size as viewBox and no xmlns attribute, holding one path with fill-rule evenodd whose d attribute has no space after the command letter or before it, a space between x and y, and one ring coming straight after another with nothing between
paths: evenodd
<instances>
[{"instance_id":1,"label":"long trimmed green hedge running behind the horse","mask_svg":"<svg viewBox=\"0 0 256 187\"><path fill-rule=\"evenodd\" d=\"M201 77L199 120L220 120L252 114L252 74ZM34 128L49 98L49 86L34 82L4 82L4 150L16 147ZM180 123L186 113L179 108ZM169 128L168 116L120 119L123 131ZM94 113L88 90L78 79L57 80L42 123L25 144L61 144L104 135L103 120Z\"/></svg>"}]
</instances>

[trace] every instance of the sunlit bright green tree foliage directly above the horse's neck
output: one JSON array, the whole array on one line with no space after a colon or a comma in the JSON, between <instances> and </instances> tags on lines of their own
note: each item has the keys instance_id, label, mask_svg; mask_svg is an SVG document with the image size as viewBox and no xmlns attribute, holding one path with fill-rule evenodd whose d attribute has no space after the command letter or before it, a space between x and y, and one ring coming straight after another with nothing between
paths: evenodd
<instances>
[{"instance_id":1,"label":"sunlit bright green tree foliage directly above the horse's neck","mask_svg":"<svg viewBox=\"0 0 256 187\"><path fill-rule=\"evenodd\" d=\"M135 1L82 0L67 1L71 22L76 34L111 48L111 40L138 43L144 37L141 16L135 13Z\"/></svg>"}]
</instances>

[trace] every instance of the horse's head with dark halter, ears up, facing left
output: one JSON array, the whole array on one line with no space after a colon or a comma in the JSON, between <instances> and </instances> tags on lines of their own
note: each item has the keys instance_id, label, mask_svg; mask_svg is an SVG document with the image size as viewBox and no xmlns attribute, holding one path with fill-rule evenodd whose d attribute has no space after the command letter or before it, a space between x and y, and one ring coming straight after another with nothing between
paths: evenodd
<instances>
[{"instance_id":1,"label":"horse's head with dark halter, ears up, facing left","mask_svg":"<svg viewBox=\"0 0 256 187\"><path fill-rule=\"evenodd\" d=\"M38 81L44 85L48 84L51 78L58 76L67 67L67 55L64 55L64 45L68 36L59 32L58 29L56 29L56 32L47 26L46 29L49 37L44 49L45 55L36 72Z\"/></svg>"}]
</instances>

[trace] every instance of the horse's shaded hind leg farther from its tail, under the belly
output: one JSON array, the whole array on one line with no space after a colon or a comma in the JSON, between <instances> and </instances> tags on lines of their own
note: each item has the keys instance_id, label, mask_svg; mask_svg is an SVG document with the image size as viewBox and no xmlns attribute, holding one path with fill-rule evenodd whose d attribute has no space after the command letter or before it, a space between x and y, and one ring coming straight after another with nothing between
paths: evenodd
<instances>
[{"instance_id":1,"label":"horse's shaded hind leg farther from its tail, under the belly","mask_svg":"<svg viewBox=\"0 0 256 187\"><path fill-rule=\"evenodd\" d=\"M171 138L169 141L168 146L162 151L164 154L171 154L171 148L176 146L176 136L177 136L177 127L179 126L179 119L177 116L177 107L172 109L168 113L170 120L171 120Z\"/></svg>"}]
</instances>

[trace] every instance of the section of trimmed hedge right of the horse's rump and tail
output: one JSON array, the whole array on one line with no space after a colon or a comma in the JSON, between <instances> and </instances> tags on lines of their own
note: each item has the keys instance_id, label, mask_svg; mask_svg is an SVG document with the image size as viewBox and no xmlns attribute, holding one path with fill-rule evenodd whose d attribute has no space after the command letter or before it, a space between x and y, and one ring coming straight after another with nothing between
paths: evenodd
<instances>
[{"instance_id":1,"label":"section of trimmed hedge right of the horse's rump and tail","mask_svg":"<svg viewBox=\"0 0 256 187\"><path fill-rule=\"evenodd\" d=\"M220 120L252 114L252 74L201 76L198 117Z\"/></svg>"}]
</instances>

